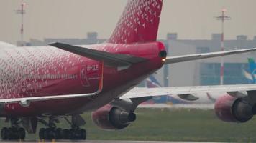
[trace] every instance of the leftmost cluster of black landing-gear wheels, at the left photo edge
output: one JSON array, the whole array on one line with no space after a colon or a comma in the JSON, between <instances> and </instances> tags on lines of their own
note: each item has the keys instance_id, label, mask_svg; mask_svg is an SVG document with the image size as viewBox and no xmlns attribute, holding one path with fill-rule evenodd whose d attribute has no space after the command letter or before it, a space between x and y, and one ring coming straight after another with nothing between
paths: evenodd
<instances>
[{"instance_id":1,"label":"leftmost cluster of black landing-gear wheels, at the left photo edge","mask_svg":"<svg viewBox=\"0 0 256 143\"><path fill-rule=\"evenodd\" d=\"M24 128L20 128L17 123L18 119L11 119L12 127L1 129L1 139L2 140L14 140L21 139L24 140L26 137L26 132Z\"/></svg>"}]
</instances>

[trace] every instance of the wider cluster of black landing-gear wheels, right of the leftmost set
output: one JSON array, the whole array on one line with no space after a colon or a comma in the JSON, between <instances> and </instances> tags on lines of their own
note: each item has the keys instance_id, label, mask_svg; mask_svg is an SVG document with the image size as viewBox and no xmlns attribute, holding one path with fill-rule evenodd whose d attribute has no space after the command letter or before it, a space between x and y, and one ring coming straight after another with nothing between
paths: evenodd
<instances>
[{"instance_id":1,"label":"wider cluster of black landing-gear wheels, right of the leftmost set","mask_svg":"<svg viewBox=\"0 0 256 143\"><path fill-rule=\"evenodd\" d=\"M80 116L79 116L80 117ZM65 118L66 119L66 118ZM79 118L81 119L81 118ZM49 128L45 129L42 128L39 131L39 138L45 139L45 140L52 140L52 139L70 139L70 140L85 140L86 139L86 130L80 129L79 126L81 126L81 123L78 123L76 116L72 116L72 121L69 122L68 119L66 119L67 122L71 125L71 129L61 129L57 128L54 124L54 120L50 118L49 120ZM79 120L81 121L81 120ZM84 122L85 124L85 122ZM83 125L83 123L82 123Z\"/></svg>"}]
</instances>

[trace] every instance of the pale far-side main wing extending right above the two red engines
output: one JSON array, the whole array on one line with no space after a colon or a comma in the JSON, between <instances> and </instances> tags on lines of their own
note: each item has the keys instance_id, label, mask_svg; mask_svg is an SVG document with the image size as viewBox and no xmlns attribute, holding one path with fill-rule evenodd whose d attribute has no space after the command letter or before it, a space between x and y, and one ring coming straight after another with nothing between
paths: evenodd
<instances>
[{"instance_id":1,"label":"pale far-side main wing extending right above the two red engines","mask_svg":"<svg viewBox=\"0 0 256 143\"><path fill-rule=\"evenodd\" d=\"M193 101L199 99L194 94L196 93L211 93L211 92L227 92L234 97L245 97L248 91L255 91L256 84L237 84L237 85L216 85L216 86L198 86L198 87L135 87L120 99L132 99L140 97L155 97L168 94L177 94L178 97Z\"/></svg>"}]
</instances>

